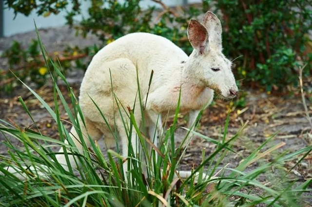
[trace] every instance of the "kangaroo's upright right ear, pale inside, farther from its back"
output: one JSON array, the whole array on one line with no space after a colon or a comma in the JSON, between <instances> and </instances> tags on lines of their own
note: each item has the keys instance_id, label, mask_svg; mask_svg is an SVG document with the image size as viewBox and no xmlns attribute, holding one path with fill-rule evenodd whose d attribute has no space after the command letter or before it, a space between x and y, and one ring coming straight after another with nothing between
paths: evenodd
<instances>
[{"instance_id":1,"label":"kangaroo's upright right ear, pale inside, farther from its back","mask_svg":"<svg viewBox=\"0 0 312 207\"><path fill-rule=\"evenodd\" d=\"M208 11L203 18L202 24L207 28L210 44L222 50L222 26L218 17Z\"/></svg>"}]
</instances>

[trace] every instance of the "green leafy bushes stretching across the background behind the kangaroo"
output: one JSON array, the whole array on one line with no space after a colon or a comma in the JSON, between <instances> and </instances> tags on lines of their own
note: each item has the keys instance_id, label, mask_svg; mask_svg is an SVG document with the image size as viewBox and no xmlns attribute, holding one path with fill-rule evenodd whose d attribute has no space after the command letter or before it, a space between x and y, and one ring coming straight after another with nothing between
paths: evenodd
<instances>
[{"instance_id":1,"label":"green leafy bushes stretching across the background behind the kangaroo","mask_svg":"<svg viewBox=\"0 0 312 207\"><path fill-rule=\"evenodd\" d=\"M306 46L311 43L307 34L312 28L312 10L309 7L312 0L252 0L248 3L244 0L203 0L202 5L190 6L179 12L168 8L160 0L151 2L162 5L163 11L156 11L155 7L143 10L139 6L141 1L127 0L121 3L117 0L92 0L88 9L89 17L78 24L73 19L80 14L78 0L5 0L4 3L13 8L15 14L26 16L33 10L43 16L58 14L71 3L67 23L77 29L77 34L86 36L91 32L97 35L102 41L100 47L128 33L149 32L167 37L186 53L192 51L186 35L189 19L198 18L207 10L215 10L223 17L224 53L234 59L236 78L241 79L244 85L265 86L268 91L272 87L296 86L298 67L302 62L311 63L312 54L307 52ZM158 14L156 18L152 16L155 12ZM84 53L80 55L92 55L97 49L82 50ZM5 53L9 59L12 58L8 54L10 52ZM71 60L65 58L64 62ZM75 61L78 68L86 69L86 65L78 63L77 57ZM42 61L40 63L43 64ZM31 68L16 65L10 65L10 68L23 68L26 71L35 68L39 73L40 65ZM311 64L306 67L304 75L310 73Z\"/></svg>"}]
</instances>

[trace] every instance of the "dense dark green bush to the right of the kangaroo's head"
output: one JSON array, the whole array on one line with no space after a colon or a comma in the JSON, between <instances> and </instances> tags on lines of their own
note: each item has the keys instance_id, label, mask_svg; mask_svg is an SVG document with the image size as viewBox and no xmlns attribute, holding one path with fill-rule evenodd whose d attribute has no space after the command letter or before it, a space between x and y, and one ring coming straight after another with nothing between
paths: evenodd
<instances>
[{"instance_id":1,"label":"dense dark green bush to the right of the kangaroo's head","mask_svg":"<svg viewBox=\"0 0 312 207\"><path fill-rule=\"evenodd\" d=\"M223 14L223 46L240 78L272 86L297 84L298 67L312 59L305 53L312 28L311 0L218 0ZM311 74L311 65L305 75Z\"/></svg>"}]
</instances>

